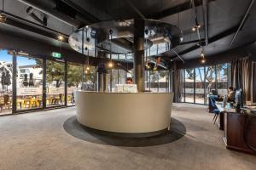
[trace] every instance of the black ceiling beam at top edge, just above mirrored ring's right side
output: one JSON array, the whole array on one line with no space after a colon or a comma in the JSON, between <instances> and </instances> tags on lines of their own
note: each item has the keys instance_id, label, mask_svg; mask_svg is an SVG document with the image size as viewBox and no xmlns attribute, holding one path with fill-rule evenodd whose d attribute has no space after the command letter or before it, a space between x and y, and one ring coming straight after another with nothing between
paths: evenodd
<instances>
[{"instance_id":1,"label":"black ceiling beam at top edge, just above mirrored ring's right side","mask_svg":"<svg viewBox=\"0 0 256 170\"><path fill-rule=\"evenodd\" d=\"M212 1L216 1L216 0L208 0L208 3L212 2ZM199 7L201 5L202 5L202 0L195 0L195 7ZM166 8L165 10L161 11L160 13L148 15L148 18L154 19L154 20L160 20L161 18L170 16L172 14L181 13L190 8L191 8L191 3L190 3L190 1L188 1L186 3L182 3L182 4L172 7L172 8Z\"/></svg>"}]
</instances>

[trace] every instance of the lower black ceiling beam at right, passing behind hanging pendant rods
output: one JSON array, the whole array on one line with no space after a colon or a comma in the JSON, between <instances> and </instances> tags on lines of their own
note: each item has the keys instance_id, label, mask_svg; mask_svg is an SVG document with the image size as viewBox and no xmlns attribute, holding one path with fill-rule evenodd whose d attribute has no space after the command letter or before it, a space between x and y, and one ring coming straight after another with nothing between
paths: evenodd
<instances>
[{"instance_id":1,"label":"lower black ceiling beam at right, passing behind hanging pendant rods","mask_svg":"<svg viewBox=\"0 0 256 170\"><path fill-rule=\"evenodd\" d=\"M216 42L218 41L219 39L222 39L224 37L227 37L227 36L230 36L232 34L235 34L236 33L236 30L238 29L239 25L237 26L233 26L232 28L230 28L229 30L226 30L226 31L223 31L221 33L219 33L218 35L214 36L214 37L211 37L208 39L208 43L212 43L212 42ZM178 53L179 55L183 55L183 54L188 54L196 49L199 49L201 48L200 45L194 45L192 46L191 48L188 48L188 49L185 49L183 52L181 53Z\"/></svg>"}]
</instances>

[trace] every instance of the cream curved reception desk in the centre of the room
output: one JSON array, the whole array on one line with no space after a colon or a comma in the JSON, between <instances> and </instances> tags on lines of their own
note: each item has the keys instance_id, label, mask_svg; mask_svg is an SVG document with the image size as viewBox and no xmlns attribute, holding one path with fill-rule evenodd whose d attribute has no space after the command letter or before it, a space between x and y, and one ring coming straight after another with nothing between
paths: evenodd
<instances>
[{"instance_id":1,"label":"cream curved reception desk in the centre of the room","mask_svg":"<svg viewBox=\"0 0 256 170\"><path fill-rule=\"evenodd\" d=\"M173 94L75 92L77 120L110 133L152 136L171 123Z\"/></svg>"}]
</instances>

